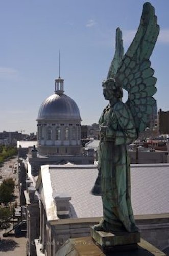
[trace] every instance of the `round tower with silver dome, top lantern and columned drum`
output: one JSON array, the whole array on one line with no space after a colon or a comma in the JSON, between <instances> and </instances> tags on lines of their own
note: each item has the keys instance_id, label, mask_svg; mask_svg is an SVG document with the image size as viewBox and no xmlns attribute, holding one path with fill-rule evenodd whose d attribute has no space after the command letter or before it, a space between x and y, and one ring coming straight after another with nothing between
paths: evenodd
<instances>
[{"instance_id":1,"label":"round tower with silver dome, top lantern and columned drum","mask_svg":"<svg viewBox=\"0 0 169 256\"><path fill-rule=\"evenodd\" d=\"M64 80L55 80L55 93L40 106L38 152L45 156L81 154L81 116L77 104L64 94Z\"/></svg>"}]
</instances>

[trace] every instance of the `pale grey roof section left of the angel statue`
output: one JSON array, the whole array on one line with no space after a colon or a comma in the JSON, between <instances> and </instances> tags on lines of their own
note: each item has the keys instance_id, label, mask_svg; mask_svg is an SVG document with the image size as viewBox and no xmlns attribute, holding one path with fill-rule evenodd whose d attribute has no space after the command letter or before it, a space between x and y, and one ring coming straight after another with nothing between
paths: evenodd
<instances>
[{"instance_id":1,"label":"pale grey roof section left of the angel statue","mask_svg":"<svg viewBox=\"0 0 169 256\"><path fill-rule=\"evenodd\" d=\"M93 165L50 169L53 193L68 193L71 196L71 218L102 216L101 197L90 194L97 172Z\"/></svg>"}]
</instances>

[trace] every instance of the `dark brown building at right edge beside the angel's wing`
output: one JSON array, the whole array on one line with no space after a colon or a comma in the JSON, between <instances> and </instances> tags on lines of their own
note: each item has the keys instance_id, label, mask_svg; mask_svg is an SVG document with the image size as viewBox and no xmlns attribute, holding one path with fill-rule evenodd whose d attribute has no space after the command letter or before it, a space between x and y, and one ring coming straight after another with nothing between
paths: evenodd
<instances>
[{"instance_id":1,"label":"dark brown building at right edge beside the angel's wing","mask_svg":"<svg viewBox=\"0 0 169 256\"><path fill-rule=\"evenodd\" d=\"M159 134L169 134L169 111L158 111Z\"/></svg>"}]
</instances>

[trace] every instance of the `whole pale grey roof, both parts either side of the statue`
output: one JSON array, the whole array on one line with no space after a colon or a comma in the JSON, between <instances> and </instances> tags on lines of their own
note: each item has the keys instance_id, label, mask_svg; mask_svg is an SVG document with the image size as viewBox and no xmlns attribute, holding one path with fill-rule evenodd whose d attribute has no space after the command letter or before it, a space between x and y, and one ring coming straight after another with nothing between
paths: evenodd
<instances>
[{"instance_id":1,"label":"whole pale grey roof, both parts either side of the statue","mask_svg":"<svg viewBox=\"0 0 169 256\"><path fill-rule=\"evenodd\" d=\"M49 165L53 193L68 193L72 199L71 218L100 217L101 197L90 190L97 176L94 165ZM131 165L134 215L169 213L169 164Z\"/></svg>"}]
</instances>

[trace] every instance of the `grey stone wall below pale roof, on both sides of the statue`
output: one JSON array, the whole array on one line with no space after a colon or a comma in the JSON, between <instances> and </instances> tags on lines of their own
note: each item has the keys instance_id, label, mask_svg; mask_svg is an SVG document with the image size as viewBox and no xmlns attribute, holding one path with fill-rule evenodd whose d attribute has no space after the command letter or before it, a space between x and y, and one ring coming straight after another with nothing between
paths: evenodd
<instances>
[{"instance_id":1,"label":"grey stone wall below pale roof, on both sides of the statue","mask_svg":"<svg viewBox=\"0 0 169 256\"><path fill-rule=\"evenodd\" d=\"M90 226L96 223L77 223L53 225L45 223L45 245L42 242L46 255L56 255L58 249L67 243L69 238L90 236ZM169 244L169 218L136 220L141 232L141 237L153 244L160 250L165 249Z\"/></svg>"}]
</instances>

